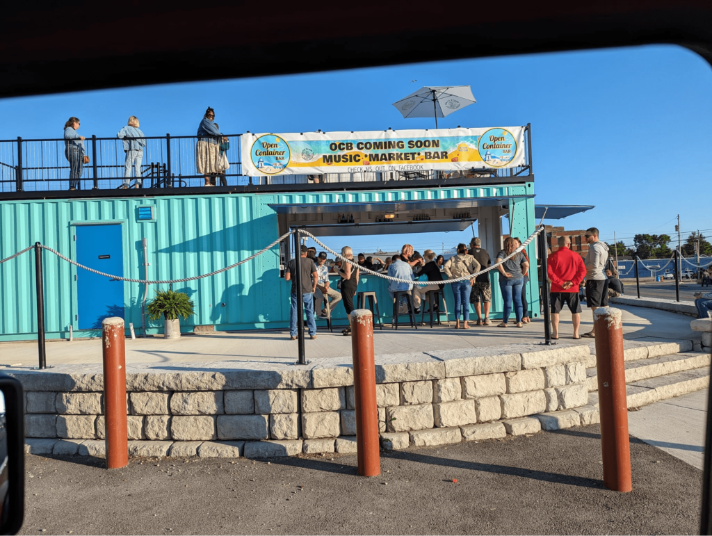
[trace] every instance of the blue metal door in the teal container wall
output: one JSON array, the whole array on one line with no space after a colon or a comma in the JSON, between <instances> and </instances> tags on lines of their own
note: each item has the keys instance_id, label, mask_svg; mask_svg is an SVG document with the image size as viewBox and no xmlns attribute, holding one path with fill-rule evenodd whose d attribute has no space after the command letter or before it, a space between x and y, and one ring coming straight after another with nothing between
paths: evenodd
<instances>
[{"instance_id":1,"label":"blue metal door in the teal container wall","mask_svg":"<svg viewBox=\"0 0 712 536\"><path fill-rule=\"evenodd\" d=\"M112 275L124 275L120 225L76 226L77 262ZM101 329L108 317L124 317L124 283L77 268L79 329Z\"/></svg>"}]
</instances>

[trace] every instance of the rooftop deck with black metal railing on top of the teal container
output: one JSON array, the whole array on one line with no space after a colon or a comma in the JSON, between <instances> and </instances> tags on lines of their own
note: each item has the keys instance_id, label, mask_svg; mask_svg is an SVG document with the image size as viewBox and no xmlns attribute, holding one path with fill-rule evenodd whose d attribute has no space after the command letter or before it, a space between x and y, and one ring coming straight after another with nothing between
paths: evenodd
<instances>
[{"instance_id":1,"label":"rooftop deck with black metal railing on top of the teal container","mask_svg":"<svg viewBox=\"0 0 712 536\"><path fill-rule=\"evenodd\" d=\"M142 187L120 190L123 183L125 152L123 140L116 137L87 136L79 189L69 189L69 163L65 140L0 140L0 199L46 199L112 196L163 196L233 191L300 191L307 189L345 190L448 185L521 184L533 182L530 147L526 164L501 169L476 169L460 177L446 178L449 172L331 173L321 176L285 174L273 177L247 177L241 163L242 135L227 135L226 152L230 167L225 173L227 186L204 189L204 177L196 167L197 136L146 137L141 166ZM135 186L135 179L131 185Z\"/></svg>"}]
</instances>

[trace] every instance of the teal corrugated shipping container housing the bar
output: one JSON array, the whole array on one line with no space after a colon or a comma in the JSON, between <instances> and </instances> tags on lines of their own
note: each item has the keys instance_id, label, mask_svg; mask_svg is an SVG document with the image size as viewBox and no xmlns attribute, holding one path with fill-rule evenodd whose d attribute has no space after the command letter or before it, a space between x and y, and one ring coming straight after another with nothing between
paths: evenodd
<instances>
[{"instance_id":1,"label":"teal corrugated shipping container housing the bar","mask_svg":"<svg viewBox=\"0 0 712 536\"><path fill-rule=\"evenodd\" d=\"M483 247L493 258L501 248L502 215L510 219L513 236L524 240L535 231L533 182L409 189L380 183L374 189L323 192L314 187L297 192L0 201L0 258L40 242L112 275L174 280L237 263L297 225L317 236L382 234L399 228L403 241L409 242L416 241L419 232L462 230L476 221ZM394 223L384 223L384 211L391 210ZM344 212L352 214L352 225L339 224ZM174 283L173 290L187 293L195 304L195 315L181 321L181 330L189 332L197 325L215 330L288 327L290 283L281 278L281 267L292 245L288 240L226 272ZM348 245L347 238L343 245ZM527 251L530 259L537 258L535 242ZM0 340L36 337L34 255L28 251L0 264ZM48 251L43 253L43 273L48 339L68 337L70 326L75 337L97 336L101 318L114 315L123 316L126 325L131 322L140 333L145 298L168 288L160 284L147 290L141 283L93 275ZM530 277L528 310L535 317L540 311L535 268ZM491 273L493 318L502 311L497 278ZM375 279L365 276L359 290L377 292L382 320L390 322L387 282ZM452 293L449 288L445 293L453 320ZM342 305L334 317L345 323ZM162 332L161 321L145 322L147 333Z\"/></svg>"}]
</instances>

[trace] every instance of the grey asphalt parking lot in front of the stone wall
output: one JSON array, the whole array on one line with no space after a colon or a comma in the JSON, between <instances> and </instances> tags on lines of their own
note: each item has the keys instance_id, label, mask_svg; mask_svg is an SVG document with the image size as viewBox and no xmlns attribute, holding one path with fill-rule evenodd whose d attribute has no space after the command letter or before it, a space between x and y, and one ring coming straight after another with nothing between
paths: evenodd
<instances>
[{"instance_id":1,"label":"grey asphalt parking lot in front of the stone wall","mask_svg":"<svg viewBox=\"0 0 712 536\"><path fill-rule=\"evenodd\" d=\"M698 532L702 471L632 438L633 491L607 490L599 433L383 453L375 478L355 475L355 454L144 458L114 471L95 458L28 456L21 535Z\"/></svg>"}]
</instances>

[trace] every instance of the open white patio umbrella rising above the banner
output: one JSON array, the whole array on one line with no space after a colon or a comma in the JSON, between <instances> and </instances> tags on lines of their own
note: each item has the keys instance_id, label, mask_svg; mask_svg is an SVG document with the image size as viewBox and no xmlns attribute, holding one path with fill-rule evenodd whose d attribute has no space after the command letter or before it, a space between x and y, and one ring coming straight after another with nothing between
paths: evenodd
<instances>
[{"instance_id":1,"label":"open white patio umbrella rising above the banner","mask_svg":"<svg viewBox=\"0 0 712 536\"><path fill-rule=\"evenodd\" d=\"M476 103L469 85L425 85L397 103L393 103L404 118L446 117L452 112Z\"/></svg>"}]
</instances>

